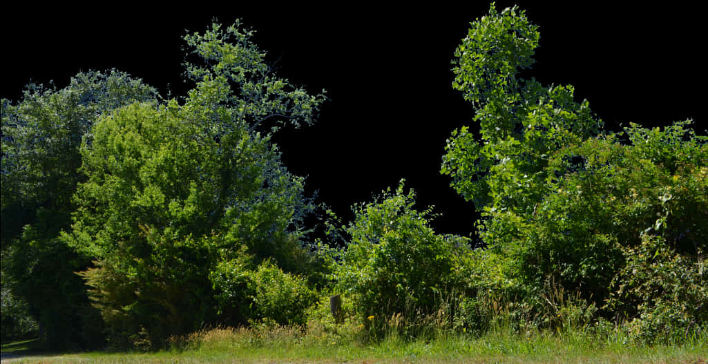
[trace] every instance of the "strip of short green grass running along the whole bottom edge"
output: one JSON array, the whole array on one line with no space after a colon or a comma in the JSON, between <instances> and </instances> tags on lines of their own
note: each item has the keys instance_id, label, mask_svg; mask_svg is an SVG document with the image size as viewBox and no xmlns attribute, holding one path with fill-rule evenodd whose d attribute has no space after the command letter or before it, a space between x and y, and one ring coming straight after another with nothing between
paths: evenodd
<instances>
[{"instance_id":1,"label":"strip of short green grass running along the whole bottom edge","mask_svg":"<svg viewBox=\"0 0 708 364\"><path fill-rule=\"evenodd\" d=\"M25 356L9 363L708 363L707 338L680 346L641 346L620 334L491 331L481 337L440 335L377 344L327 331L297 328L210 329L175 340L155 353L72 353ZM25 341L26 343L26 341ZM22 343L3 346L12 350ZM16 351L17 352L17 351ZM5 360L4 360L5 362Z\"/></svg>"}]
</instances>

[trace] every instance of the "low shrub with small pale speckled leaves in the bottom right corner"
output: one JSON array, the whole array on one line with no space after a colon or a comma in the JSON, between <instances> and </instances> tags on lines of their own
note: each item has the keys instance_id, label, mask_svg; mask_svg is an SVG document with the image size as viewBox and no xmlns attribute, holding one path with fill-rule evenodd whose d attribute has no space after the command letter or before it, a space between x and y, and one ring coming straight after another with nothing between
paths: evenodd
<instances>
[{"instance_id":1,"label":"low shrub with small pale speckled leaves in the bottom right corner","mask_svg":"<svg viewBox=\"0 0 708 364\"><path fill-rule=\"evenodd\" d=\"M670 249L661 237L644 234L627 248L627 266L612 281L607 309L629 319L624 329L653 344L682 343L704 333L708 323L708 277L702 255Z\"/></svg>"}]
</instances>

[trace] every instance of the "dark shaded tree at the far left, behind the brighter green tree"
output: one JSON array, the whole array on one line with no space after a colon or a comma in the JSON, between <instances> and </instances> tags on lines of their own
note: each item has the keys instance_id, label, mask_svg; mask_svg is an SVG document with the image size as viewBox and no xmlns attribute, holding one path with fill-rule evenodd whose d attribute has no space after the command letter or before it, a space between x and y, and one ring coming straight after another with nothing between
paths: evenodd
<instances>
[{"instance_id":1,"label":"dark shaded tree at the far left, behind the brighter green tree","mask_svg":"<svg viewBox=\"0 0 708 364\"><path fill-rule=\"evenodd\" d=\"M27 302L48 347L101 344L100 319L74 275L90 261L57 240L85 181L81 140L102 113L155 97L140 80L110 71L79 73L60 90L32 84L16 105L2 101L3 288Z\"/></svg>"}]
</instances>

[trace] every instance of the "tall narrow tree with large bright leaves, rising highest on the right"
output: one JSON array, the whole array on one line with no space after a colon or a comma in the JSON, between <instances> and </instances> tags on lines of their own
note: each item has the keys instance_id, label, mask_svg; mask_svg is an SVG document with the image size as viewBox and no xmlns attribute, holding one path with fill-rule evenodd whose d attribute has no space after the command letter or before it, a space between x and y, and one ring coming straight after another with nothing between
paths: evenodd
<instances>
[{"instance_id":1,"label":"tall narrow tree with large bright leaves, rising highest on the right","mask_svg":"<svg viewBox=\"0 0 708 364\"><path fill-rule=\"evenodd\" d=\"M549 156L595 135L602 123L588 101L573 100L572 86L520 78L539 42L524 11L499 13L492 4L489 15L471 25L455 51L452 86L474 106L480 140L466 126L452 132L441 172L481 210L489 229L498 214L532 214L545 182L554 178L545 168Z\"/></svg>"}]
</instances>

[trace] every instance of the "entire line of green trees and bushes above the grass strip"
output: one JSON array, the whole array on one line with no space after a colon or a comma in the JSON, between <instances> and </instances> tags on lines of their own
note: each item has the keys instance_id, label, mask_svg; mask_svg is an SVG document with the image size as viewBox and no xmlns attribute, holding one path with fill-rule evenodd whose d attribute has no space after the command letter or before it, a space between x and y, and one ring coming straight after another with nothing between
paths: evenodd
<instances>
[{"instance_id":1,"label":"entire line of green trees and bushes above the grass strip","mask_svg":"<svg viewBox=\"0 0 708 364\"><path fill-rule=\"evenodd\" d=\"M689 121L607 132L572 86L524 79L539 33L523 11L492 5L455 52L479 134L455 130L441 172L481 212L476 249L435 233L403 181L346 224L306 195L271 139L314 123L324 91L278 77L251 36L239 22L186 35L194 87L180 99L112 70L2 101L4 340L159 348L209 326L336 331L334 294L365 339L501 323L704 334L708 137Z\"/></svg>"}]
</instances>

